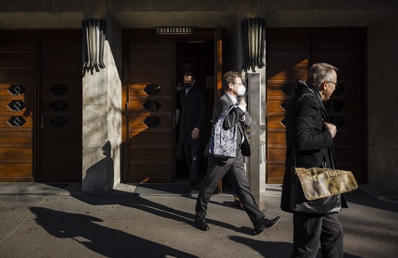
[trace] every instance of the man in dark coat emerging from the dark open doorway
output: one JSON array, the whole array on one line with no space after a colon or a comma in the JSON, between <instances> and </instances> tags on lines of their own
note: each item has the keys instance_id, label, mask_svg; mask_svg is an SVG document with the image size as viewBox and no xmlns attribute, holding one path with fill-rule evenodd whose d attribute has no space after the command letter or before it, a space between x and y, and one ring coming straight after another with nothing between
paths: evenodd
<instances>
[{"instance_id":1,"label":"man in dark coat emerging from the dark open doorway","mask_svg":"<svg viewBox=\"0 0 398 258\"><path fill-rule=\"evenodd\" d=\"M204 125L207 118L207 101L203 90L196 87L195 75L184 73L181 96L180 142L184 146L189 170L189 192L198 181L199 157L202 151Z\"/></svg>"}]
</instances>

